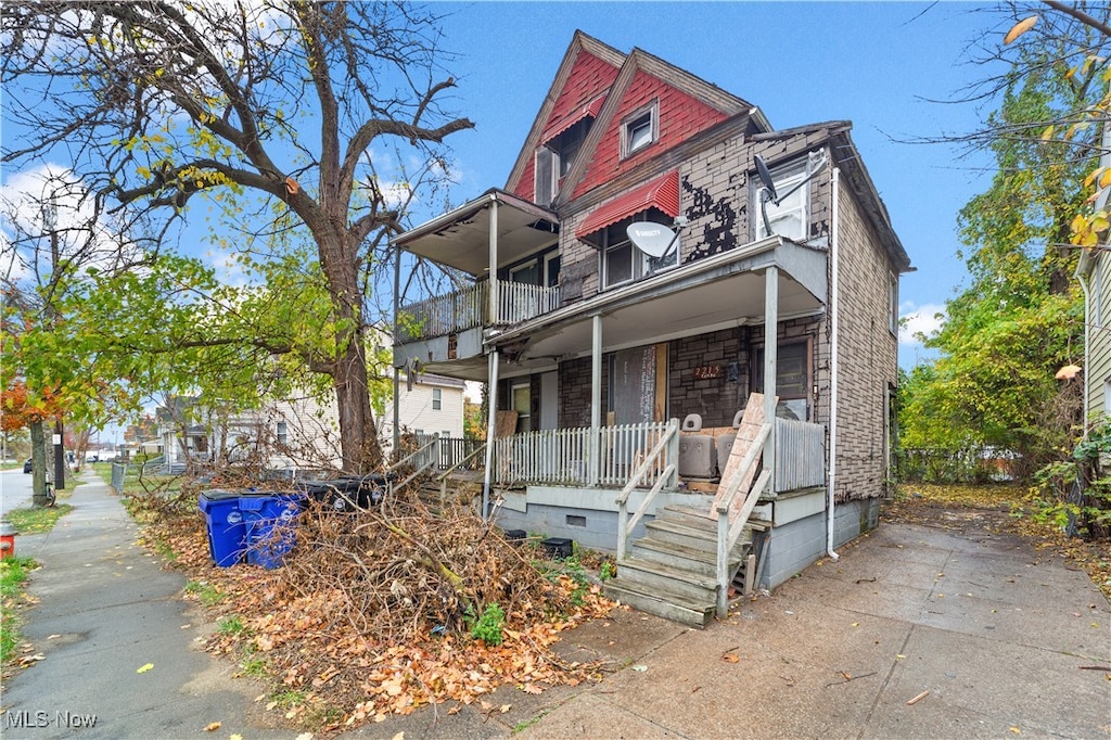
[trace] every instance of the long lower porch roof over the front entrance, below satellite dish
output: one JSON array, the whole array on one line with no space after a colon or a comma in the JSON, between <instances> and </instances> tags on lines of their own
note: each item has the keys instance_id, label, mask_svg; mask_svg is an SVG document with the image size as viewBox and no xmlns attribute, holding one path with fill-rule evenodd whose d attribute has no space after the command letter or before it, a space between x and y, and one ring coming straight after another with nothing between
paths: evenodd
<instances>
[{"instance_id":1,"label":"long lower porch roof over the front entrance, below satellite dish","mask_svg":"<svg viewBox=\"0 0 1111 740\"><path fill-rule=\"evenodd\" d=\"M771 237L669 270L490 337L512 363L504 376L551 368L591 351L591 319L602 317L604 351L764 320L764 273L779 268L779 319L824 310L825 252ZM476 367L476 370L479 368Z\"/></svg>"}]
</instances>

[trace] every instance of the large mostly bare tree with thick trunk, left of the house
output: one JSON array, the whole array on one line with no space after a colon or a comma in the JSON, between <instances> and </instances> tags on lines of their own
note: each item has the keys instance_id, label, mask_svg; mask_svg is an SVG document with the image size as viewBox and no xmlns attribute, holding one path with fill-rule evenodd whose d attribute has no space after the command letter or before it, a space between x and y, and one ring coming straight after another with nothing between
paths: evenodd
<instances>
[{"instance_id":1,"label":"large mostly bare tree with thick trunk, left of the house","mask_svg":"<svg viewBox=\"0 0 1111 740\"><path fill-rule=\"evenodd\" d=\"M454 82L437 18L266 0L6 2L0 19L6 129L19 134L3 162L64 156L100 208L157 214L162 234L198 196L224 209L237 248L307 234L336 321L329 356L306 361L336 388L344 468L377 467L368 276L417 187L444 176L444 139L473 127L441 107ZM418 173L387 171L391 149Z\"/></svg>"}]
</instances>

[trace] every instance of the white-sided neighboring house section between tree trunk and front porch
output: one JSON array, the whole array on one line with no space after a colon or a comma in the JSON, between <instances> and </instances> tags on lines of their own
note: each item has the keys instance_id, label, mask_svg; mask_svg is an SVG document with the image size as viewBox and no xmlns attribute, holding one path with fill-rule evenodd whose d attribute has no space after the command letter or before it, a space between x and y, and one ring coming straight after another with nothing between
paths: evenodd
<instances>
[{"instance_id":1,"label":"white-sided neighboring house section between tree trunk and front porch","mask_svg":"<svg viewBox=\"0 0 1111 740\"><path fill-rule=\"evenodd\" d=\"M402 374L398 391L398 423L401 431L463 437L463 381L432 373L420 373L413 382ZM382 449L393 449L393 404L387 403L379 420Z\"/></svg>"}]
</instances>

